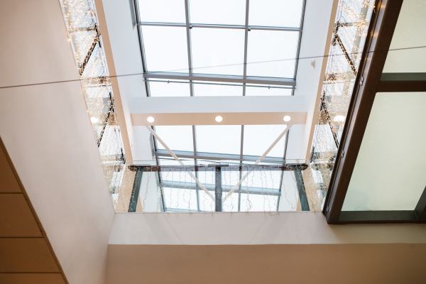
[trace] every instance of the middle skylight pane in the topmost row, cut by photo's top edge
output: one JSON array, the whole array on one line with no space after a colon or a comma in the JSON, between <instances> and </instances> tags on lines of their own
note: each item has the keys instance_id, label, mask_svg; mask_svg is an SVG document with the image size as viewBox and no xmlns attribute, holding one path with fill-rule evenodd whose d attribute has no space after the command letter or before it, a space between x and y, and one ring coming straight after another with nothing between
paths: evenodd
<instances>
[{"instance_id":1,"label":"middle skylight pane in the topmost row, cut by photo's top edge","mask_svg":"<svg viewBox=\"0 0 426 284\"><path fill-rule=\"evenodd\" d=\"M246 24L246 0L191 0L191 23Z\"/></svg>"}]
</instances>

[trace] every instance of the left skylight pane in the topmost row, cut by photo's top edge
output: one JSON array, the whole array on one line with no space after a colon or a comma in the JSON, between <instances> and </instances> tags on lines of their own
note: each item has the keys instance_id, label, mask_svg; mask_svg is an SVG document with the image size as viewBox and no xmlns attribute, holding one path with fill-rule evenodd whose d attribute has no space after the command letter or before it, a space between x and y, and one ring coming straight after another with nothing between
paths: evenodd
<instances>
[{"instance_id":1,"label":"left skylight pane in the topmost row, cut by photo's top edge","mask_svg":"<svg viewBox=\"0 0 426 284\"><path fill-rule=\"evenodd\" d=\"M186 23L185 1L138 0L143 22Z\"/></svg>"}]
</instances>

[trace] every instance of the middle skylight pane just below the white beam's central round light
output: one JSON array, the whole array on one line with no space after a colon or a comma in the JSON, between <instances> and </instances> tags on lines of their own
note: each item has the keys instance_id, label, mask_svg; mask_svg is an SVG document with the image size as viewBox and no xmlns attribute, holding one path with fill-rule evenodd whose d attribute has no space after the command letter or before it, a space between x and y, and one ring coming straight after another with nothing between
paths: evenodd
<instances>
[{"instance_id":1,"label":"middle skylight pane just below the white beam's central round light","mask_svg":"<svg viewBox=\"0 0 426 284\"><path fill-rule=\"evenodd\" d=\"M197 133L197 152L240 154L241 125L200 125Z\"/></svg>"}]
</instances>

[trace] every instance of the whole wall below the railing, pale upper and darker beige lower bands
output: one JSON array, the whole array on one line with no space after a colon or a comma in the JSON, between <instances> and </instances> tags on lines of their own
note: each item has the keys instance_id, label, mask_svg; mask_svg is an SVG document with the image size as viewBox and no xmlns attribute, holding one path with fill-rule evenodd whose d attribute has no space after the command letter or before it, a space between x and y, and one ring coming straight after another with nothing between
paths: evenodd
<instances>
[{"instance_id":1,"label":"whole wall below the railing, pale upper and darker beige lower bands","mask_svg":"<svg viewBox=\"0 0 426 284\"><path fill-rule=\"evenodd\" d=\"M107 284L425 283L426 224L320 212L116 214Z\"/></svg>"}]
</instances>

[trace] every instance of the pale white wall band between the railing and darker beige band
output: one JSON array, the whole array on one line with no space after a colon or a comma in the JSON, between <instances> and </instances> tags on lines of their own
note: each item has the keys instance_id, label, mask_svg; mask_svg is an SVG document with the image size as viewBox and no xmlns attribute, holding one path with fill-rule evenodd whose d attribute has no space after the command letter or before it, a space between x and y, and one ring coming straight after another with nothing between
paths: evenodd
<instances>
[{"instance_id":1,"label":"pale white wall band between the railing and darker beige band","mask_svg":"<svg viewBox=\"0 0 426 284\"><path fill-rule=\"evenodd\" d=\"M426 243L426 224L327 224L321 212L119 213L109 244Z\"/></svg>"}]
</instances>

